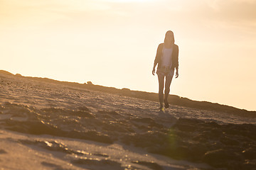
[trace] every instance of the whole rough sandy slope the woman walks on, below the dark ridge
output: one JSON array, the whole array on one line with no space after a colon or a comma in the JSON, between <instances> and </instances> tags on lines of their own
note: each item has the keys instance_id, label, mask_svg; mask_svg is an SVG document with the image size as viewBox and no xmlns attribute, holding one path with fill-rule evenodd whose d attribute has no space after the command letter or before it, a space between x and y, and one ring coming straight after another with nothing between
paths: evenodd
<instances>
[{"instance_id":1,"label":"whole rough sandy slope the woman walks on, below the dark ridge","mask_svg":"<svg viewBox=\"0 0 256 170\"><path fill-rule=\"evenodd\" d=\"M253 169L256 118L0 73L1 169Z\"/></svg>"}]
</instances>

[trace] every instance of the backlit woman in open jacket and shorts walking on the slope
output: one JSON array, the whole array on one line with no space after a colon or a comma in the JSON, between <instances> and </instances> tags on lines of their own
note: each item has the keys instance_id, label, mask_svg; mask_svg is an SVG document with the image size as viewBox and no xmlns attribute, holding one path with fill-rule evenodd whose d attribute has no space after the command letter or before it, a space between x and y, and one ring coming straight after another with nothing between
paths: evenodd
<instances>
[{"instance_id":1,"label":"backlit woman in open jacket and shorts walking on the slope","mask_svg":"<svg viewBox=\"0 0 256 170\"><path fill-rule=\"evenodd\" d=\"M156 74L159 79L160 110L164 111L164 107L169 108L168 96L171 80L174 77L174 69L176 69L176 78L178 78L178 45L174 44L174 33L171 30L166 32L164 43L159 44L157 48L152 70L153 75L155 74L156 64L158 64ZM166 79L165 84L164 78Z\"/></svg>"}]
</instances>

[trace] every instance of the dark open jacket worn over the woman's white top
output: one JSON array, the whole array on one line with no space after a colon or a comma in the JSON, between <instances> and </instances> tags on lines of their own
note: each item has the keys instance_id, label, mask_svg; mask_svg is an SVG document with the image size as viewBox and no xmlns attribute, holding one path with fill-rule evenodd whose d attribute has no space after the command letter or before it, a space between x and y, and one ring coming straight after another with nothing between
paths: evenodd
<instances>
[{"instance_id":1,"label":"dark open jacket worn over the woman's white top","mask_svg":"<svg viewBox=\"0 0 256 170\"><path fill-rule=\"evenodd\" d=\"M154 60L154 64L158 64L157 68L161 68L162 64L162 55L163 55L164 43L159 44L159 47L156 51L156 58ZM171 69L176 68L178 70L178 45L174 44L172 47L171 53Z\"/></svg>"}]
</instances>

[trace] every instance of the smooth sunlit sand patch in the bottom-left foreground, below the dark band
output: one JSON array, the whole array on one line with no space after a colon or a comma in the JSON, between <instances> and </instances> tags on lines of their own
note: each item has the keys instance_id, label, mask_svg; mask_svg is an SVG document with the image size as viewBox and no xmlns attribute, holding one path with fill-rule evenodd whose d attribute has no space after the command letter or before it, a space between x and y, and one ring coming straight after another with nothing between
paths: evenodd
<instances>
[{"instance_id":1,"label":"smooth sunlit sand patch in the bottom-left foreground, below the dark band","mask_svg":"<svg viewBox=\"0 0 256 170\"><path fill-rule=\"evenodd\" d=\"M50 135L24 135L6 130L0 131L0 138L1 169L209 168L204 164L176 161L157 154L146 153L143 149L119 144L105 145L100 142ZM50 147L48 146L50 142L65 145L65 147Z\"/></svg>"}]
</instances>

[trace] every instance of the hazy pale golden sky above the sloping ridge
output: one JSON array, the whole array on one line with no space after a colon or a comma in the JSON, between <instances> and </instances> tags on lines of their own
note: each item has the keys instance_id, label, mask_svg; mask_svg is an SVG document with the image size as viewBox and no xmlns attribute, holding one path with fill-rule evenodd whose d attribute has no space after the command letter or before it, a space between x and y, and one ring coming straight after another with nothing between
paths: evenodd
<instances>
[{"instance_id":1,"label":"hazy pale golden sky above the sloping ridge","mask_svg":"<svg viewBox=\"0 0 256 170\"><path fill-rule=\"evenodd\" d=\"M255 0L0 0L0 69L158 92L167 30L179 47L171 94L256 111Z\"/></svg>"}]
</instances>

